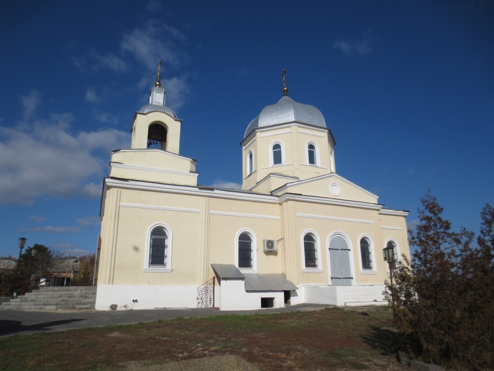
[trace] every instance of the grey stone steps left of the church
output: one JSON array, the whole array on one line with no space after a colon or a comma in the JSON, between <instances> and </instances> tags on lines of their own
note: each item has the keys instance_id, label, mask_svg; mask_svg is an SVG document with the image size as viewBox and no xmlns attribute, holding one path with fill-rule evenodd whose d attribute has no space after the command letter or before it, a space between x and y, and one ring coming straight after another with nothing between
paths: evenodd
<instances>
[{"instance_id":1,"label":"grey stone steps left of the church","mask_svg":"<svg viewBox=\"0 0 494 371\"><path fill-rule=\"evenodd\" d=\"M94 311L96 286L41 287L3 303L0 310Z\"/></svg>"}]
</instances>

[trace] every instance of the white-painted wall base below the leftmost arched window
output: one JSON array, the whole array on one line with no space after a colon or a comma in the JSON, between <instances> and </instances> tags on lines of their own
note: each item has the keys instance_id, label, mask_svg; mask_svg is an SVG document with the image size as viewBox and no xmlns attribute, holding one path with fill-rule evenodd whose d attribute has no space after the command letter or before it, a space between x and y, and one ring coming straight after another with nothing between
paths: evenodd
<instances>
[{"instance_id":1,"label":"white-painted wall base below the leftmost arched window","mask_svg":"<svg viewBox=\"0 0 494 371\"><path fill-rule=\"evenodd\" d=\"M195 285L98 285L96 310L109 311L112 304L117 310L155 308L196 308ZM137 300L133 303L132 300Z\"/></svg>"}]
</instances>

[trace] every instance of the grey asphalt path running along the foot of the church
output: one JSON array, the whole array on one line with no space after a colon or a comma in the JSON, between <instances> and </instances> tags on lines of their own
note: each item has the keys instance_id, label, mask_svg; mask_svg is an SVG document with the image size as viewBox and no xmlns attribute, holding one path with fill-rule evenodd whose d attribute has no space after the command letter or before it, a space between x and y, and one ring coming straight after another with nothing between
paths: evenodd
<instances>
[{"instance_id":1,"label":"grey asphalt path running along the foot of the church","mask_svg":"<svg viewBox=\"0 0 494 371\"><path fill-rule=\"evenodd\" d=\"M59 331L83 327L136 324L174 318L221 316L227 314L248 315L297 311L314 311L331 307L323 304L298 304L285 308L258 309L252 311L219 311L217 309L152 309L92 312L34 312L0 309L0 336Z\"/></svg>"}]
</instances>

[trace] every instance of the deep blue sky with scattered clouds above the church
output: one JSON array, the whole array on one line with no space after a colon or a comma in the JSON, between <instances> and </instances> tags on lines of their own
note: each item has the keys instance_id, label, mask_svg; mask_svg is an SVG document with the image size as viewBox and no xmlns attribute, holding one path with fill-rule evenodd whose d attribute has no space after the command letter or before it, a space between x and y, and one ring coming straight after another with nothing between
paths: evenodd
<instances>
[{"instance_id":1,"label":"deep blue sky with scattered clouds above the church","mask_svg":"<svg viewBox=\"0 0 494 371\"><path fill-rule=\"evenodd\" d=\"M0 20L0 256L92 253L110 153L162 59L198 183L241 183L248 123L282 96L325 116L336 173L454 228L494 204L492 1L9 1Z\"/></svg>"}]
</instances>

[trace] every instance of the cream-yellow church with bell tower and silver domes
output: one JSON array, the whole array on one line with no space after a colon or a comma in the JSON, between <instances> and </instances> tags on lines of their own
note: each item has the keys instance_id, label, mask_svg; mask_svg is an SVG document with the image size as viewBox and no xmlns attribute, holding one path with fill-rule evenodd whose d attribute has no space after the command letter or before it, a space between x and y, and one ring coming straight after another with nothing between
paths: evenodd
<instances>
[{"instance_id":1,"label":"cream-yellow church with bell tower and silver domes","mask_svg":"<svg viewBox=\"0 0 494 371\"><path fill-rule=\"evenodd\" d=\"M336 174L323 115L288 96L285 72L247 125L239 190L197 185L158 70L104 180L96 310L384 303L383 249L410 256L408 212Z\"/></svg>"}]
</instances>

